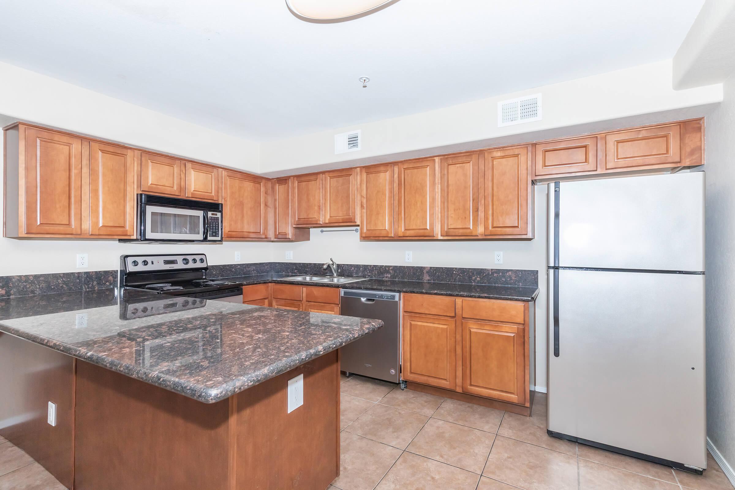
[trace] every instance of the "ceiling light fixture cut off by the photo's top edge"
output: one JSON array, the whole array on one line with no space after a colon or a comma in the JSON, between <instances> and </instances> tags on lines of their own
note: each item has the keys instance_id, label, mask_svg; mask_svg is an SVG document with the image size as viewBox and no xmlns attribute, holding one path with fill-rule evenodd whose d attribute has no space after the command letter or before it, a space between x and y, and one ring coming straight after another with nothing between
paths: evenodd
<instances>
[{"instance_id":1,"label":"ceiling light fixture cut off by the photo's top edge","mask_svg":"<svg viewBox=\"0 0 735 490\"><path fill-rule=\"evenodd\" d=\"M288 9L308 22L344 22L384 9L398 0L286 0Z\"/></svg>"}]
</instances>

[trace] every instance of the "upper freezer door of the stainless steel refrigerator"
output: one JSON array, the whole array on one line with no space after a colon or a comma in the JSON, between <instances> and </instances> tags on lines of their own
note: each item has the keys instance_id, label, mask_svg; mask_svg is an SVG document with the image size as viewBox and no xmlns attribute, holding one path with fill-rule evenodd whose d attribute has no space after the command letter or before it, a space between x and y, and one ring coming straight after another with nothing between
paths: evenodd
<instances>
[{"instance_id":1,"label":"upper freezer door of the stainless steel refrigerator","mask_svg":"<svg viewBox=\"0 0 735 490\"><path fill-rule=\"evenodd\" d=\"M555 184L549 265L558 205L559 266L704 270L704 172Z\"/></svg>"}]
</instances>

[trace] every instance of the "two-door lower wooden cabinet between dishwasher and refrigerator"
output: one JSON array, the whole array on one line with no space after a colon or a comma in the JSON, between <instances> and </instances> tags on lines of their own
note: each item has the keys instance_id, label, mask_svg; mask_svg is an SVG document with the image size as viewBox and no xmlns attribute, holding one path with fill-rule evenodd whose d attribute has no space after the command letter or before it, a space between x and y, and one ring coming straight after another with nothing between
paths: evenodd
<instances>
[{"instance_id":1,"label":"two-door lower wooden cabinet between dishwasher and refrigerator","mask_svg":"<svg viewBox=\"0 0 735 490\"><path fill-rule=\"evenodd\" d=\"M402 377L528 407L533 305L404 294Z\"/></svg>"}]
</instances>

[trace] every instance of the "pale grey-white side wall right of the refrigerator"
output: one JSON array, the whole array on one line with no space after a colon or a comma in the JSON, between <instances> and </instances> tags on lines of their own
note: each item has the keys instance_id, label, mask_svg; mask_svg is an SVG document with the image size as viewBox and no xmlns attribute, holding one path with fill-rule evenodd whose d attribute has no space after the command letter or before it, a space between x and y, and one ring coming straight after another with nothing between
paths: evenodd
<instances>
[{"instance_id":1,"label":"pale grey-white side wall right of the refrigerator","mask_svg":"<svg viewBox=\"0 0 735 490\"><path fill-rule=\"evenodd\" d=\"M706 121L707 435L735 465L735 75Z\"/></svg>"}]
</instances>

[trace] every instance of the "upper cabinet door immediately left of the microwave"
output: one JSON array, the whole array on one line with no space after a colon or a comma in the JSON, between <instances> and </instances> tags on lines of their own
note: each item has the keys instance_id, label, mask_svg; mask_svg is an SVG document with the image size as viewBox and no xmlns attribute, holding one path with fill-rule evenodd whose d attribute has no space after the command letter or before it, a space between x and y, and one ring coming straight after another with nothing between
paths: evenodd
<instances>
[{"instance_id":1,"label":"upper cabinet door immediately left of the microwave","mask_svg":"<svg viewBox=\"0 0 735 490\"><path fill-rule=\"evenodd\" d=\"M135 237L133 151L90 142L90 235Z\"/></svg>"}]
</instances>

